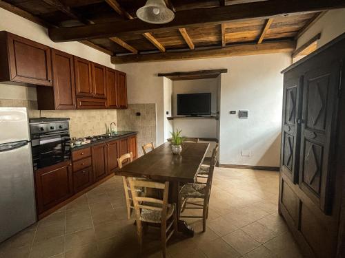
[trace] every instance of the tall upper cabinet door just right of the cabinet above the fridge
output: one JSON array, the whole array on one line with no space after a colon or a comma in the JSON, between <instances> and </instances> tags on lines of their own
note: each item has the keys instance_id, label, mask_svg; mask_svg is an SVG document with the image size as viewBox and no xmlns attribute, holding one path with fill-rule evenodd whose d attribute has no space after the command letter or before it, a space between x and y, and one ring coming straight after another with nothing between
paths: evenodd
<instances>
[{"instance_id":1,"label":"tall upper cabinet door just right of the cabinet above the fridge","mask_svg":"<svg viewBox=\"0 0 345 258\"><path fill-rule=\"evenodd\" d=\"M52 50L55 109L76 109L73 56Z\"/></svg>"}]
</instances>

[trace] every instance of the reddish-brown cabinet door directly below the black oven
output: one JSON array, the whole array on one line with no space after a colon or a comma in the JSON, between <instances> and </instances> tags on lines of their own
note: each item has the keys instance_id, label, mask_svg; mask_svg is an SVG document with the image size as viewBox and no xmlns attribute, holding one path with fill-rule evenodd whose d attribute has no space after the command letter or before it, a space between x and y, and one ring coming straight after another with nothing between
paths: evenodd
<instances>
[{"instance_id":1,"label":"reddish-brown cabinet door directly below the black oven","mask_svg":"<svg viewBox=\"0 0 345 258\"><path fill-rule=\"evenodd\" d=\"M34 173L38 213L43 213L73 194L70 161L39 169Z\"/></svg>"}]
</instances>

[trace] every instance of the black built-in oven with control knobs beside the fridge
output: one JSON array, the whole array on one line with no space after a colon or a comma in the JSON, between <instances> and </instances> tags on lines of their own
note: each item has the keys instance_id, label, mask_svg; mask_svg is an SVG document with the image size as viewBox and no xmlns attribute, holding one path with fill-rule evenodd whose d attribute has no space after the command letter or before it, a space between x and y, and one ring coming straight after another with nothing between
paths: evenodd
<instances>
[{"instance_id":1,"label":"black built-in oven with control knobs beside the fridge","mask_svg":"<svg viewBox=\"0 0 345 258\"><path fill-rule=\"evenodd\" d=\"M70 118L31 118L34 171L70 160Z\"/></svg>"}]
</instances>

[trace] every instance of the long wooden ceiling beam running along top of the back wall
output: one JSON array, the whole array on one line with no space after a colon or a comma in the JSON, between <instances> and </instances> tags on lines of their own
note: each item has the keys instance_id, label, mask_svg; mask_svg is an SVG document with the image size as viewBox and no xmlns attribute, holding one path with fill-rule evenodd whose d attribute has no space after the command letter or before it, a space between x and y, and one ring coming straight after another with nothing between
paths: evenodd
<instances>
[{"instance_id":1,"label":"long wooden ceiling beam running along top of the back wall","mask_svg":"<svg viewBox=\"0 0 345 258\"><path fill-rule=\"evenodd\" d=\"M270 54L293 52L296 48L295 41L275 41L262 44L243 44L230 45L213 50L194 50L185 52L165 52L158 54L132 54L126 56L112 56L111 61L114 64L121 63L139 63L153 61L173 61L201 58L217 58L228 56L246 56L253 54Z\"/></svg>"}]
</instances>

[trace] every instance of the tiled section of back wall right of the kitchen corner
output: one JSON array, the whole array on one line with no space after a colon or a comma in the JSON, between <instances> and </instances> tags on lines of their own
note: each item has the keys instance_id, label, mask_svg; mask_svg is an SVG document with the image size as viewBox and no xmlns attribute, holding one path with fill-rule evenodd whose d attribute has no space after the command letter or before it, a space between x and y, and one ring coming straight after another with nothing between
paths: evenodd
<instances>
[{"instance_id":1,"label":"tiled section of back wall right of the kitchen corner","mask_svg":"<svg viewBox=\"0 0 345 258\"><path fill-rule=\"evenodd\" d=\"M143 155L142 145L153 142L156 146L156 104L129 104L128 109L117 110L117 128L138 131L139 155Z\"/></svg>"}]
</instances>

